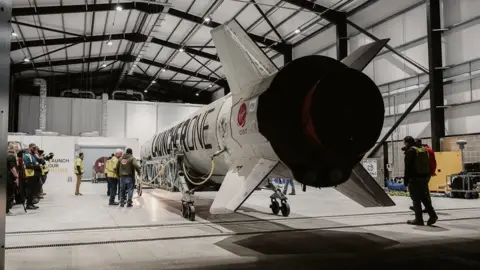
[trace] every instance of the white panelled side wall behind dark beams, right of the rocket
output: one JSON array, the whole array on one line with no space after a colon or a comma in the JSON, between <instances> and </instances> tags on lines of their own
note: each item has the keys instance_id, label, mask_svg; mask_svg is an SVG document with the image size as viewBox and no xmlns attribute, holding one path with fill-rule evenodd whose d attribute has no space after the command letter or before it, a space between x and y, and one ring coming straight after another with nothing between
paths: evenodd
<instances>
[{"instance_id":1,"label":"white panelled side wall behind dark beams, right of the rocket","mask_svg":"<svg viewBox=\"0 0 480 270\"><path fill-rule=\"evenodd\" d=\"M480 1L444 0L442 22L443 63L446 79L445 104L446 134L480 133ZM428 68L426 4L421 0L382 0L349 17L378 38L390 38L389 45ZM372 40L348 29L349 51ZM308 34L308 33L307 33ZM335 27L294 48L294 58L318 54L336 58ZM399 58L383 50L365 69L365 74L379 85L386 110L385 134L395 120L418 96L428 83L428 76ZM404 136L430 136L429 95L393 133L391 140Z\"/></svg>"}]
</instances>

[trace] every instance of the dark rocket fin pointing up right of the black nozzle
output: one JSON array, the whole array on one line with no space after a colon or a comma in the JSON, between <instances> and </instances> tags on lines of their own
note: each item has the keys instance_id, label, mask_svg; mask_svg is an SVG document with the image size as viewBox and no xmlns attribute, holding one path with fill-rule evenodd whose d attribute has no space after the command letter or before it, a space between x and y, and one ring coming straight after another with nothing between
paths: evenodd
<instances>
[{"instance_id":1,"label":"dark rocket fin pointing up right of the black nozzle","mask_svg":"<svg viewBox=\"0 0 480 270\"><path fill-rule=\"evenodd\" d=\"M377 56L377 54L387 45L389 38L375 41L361 46L354 52L345 57L341 62L350 68L362 71Z\"/></svg>"}]
</instances>

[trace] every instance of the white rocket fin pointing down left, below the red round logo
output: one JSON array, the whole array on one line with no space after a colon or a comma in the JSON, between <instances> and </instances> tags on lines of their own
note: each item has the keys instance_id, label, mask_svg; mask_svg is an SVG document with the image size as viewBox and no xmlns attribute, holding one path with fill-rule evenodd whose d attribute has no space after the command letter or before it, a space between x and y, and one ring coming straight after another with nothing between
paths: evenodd
<instances>
[{"instance_id":1,"label":"white rocket fin pointing down left, below the red round logo","mask_svg":"<svg viewBox=\"0 0 480 270\"><path fill-rule=\"evenodd\" d=\"M235 212L277 166L277 160L245 158L236 160L215 196L210 213Z\"/></svg>"}]
</instances>

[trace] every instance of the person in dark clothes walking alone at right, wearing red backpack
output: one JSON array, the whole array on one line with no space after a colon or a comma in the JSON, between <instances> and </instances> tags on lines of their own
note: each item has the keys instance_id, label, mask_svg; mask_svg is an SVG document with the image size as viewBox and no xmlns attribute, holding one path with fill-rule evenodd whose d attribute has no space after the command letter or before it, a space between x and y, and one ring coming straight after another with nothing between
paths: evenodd
<instances>
[{"instance_id":1,"label":"person in dark clothes walking alone at right, wearing red backpack","mask_svg":"<svg viewBox=\"0 0 480 270\"><path fill-rule=\"evenodd\" d=\"M432 206L428 181L430 180L430 165L428 152L424 147L415 145L415 140L411 136L403 139L405 144L405 185L408 185L408 191L413 201L415 219L409 220L408 224L423 226L422 203L429 215L427 225L433 225L438 220L438 216Z\"/></svg>"}]
</instances>

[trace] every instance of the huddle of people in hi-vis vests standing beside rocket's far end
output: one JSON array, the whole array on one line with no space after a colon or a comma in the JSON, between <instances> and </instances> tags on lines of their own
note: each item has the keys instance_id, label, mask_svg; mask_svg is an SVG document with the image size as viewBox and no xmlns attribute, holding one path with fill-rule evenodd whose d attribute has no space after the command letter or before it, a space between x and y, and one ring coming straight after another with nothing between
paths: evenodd
<instances>
[{"instance_id":1,"label":"huddle of people in hi-vis vests standing beside rocket's far end","mask_svg":"<svg viewBox=\"0 0 480 270\"><path fill-rule=\"evenodd\" d=\"M135 186L135 172L140 175L140 164L133 157L132 149L128 148L125 154L117 149L105 164L107 174L107 195L109 205L132 207L133 188ZM118 200L115 195L118 192Z\"/></svg>"}]
</instances>

